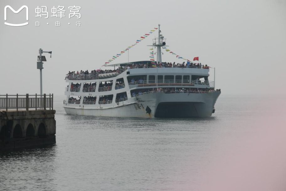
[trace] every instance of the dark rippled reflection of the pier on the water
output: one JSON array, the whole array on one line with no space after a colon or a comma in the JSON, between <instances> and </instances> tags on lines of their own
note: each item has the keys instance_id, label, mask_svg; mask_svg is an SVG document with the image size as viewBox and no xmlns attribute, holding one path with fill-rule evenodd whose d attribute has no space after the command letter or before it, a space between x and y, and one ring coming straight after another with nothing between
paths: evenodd
<instances>
[{"instance_id":1,"label":"dark rippled reflection of the pier on the water","mask_svg":"<svg viewBox=\"0 0 286 191\"><path fill-rule=\"evenodd\" d=\"M1 190L55 190L56 144L0 154Z\"/></svg>"}]
</instances>

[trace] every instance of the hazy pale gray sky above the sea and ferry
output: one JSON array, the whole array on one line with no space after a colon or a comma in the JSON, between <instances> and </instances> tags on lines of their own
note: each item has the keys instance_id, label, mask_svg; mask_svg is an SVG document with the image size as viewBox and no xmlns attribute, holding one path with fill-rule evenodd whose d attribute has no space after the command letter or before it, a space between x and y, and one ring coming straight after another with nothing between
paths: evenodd
<instances>
[{"instance_id":1,"label":"hazy pale gray sky above the sea and ferry","mask_svg":"<svg viewBox=\"0 0 286 191\"><path fill-rule=\"evenodd\" d=\"M29 25L4 25L6 5L16 10L27 5ZM68 18L73 5L81 7L80 19ZM35 17L37 6L47 6L50 15L53 6L65 6L66 17ZM7 21L26 22L24 11L7 15ZM42 48L53 51L52 58L45 54L43 92L63 96L69 70L103 68L159 23L170 50L188 59L198 56L202 64L216 68L216 88L224 94L286 93L285 0L1 0L0 18L0 94L40 93L36 62ZM60 27L55 26L57 20ZM39 27L35 21L40 21ZM80 27L76 21L81 21ZM149 59L146 45L154 34L130 49L130 61ZM162 52L163 61L182 62ZM113 63L127 59L125 53Z\"/></svg>"}]
</instances>

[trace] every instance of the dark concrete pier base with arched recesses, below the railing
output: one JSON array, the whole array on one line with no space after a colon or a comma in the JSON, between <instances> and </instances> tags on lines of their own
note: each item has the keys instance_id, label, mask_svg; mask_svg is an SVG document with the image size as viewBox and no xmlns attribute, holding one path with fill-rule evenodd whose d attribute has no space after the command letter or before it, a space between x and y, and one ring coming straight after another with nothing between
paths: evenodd
<instances>
[{"instance_id":1,"label":"dark concrete pier base with arched recesses, below the railing","mask_svg":"<svg viewBox=\"0 0 286 191\"><path fill-rule=\"evenodd\" d=\"M0 111L0 150L56 142L55 110Z\"/></svg>"}]
</instances>

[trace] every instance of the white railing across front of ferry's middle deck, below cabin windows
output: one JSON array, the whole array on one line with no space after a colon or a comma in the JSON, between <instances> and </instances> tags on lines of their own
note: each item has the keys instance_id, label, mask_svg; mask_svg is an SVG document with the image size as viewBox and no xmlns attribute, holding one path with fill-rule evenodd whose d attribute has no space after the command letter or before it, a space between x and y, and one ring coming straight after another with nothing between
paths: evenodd
<instances>
[{"instance_id":1,"label":"white railing across front of ferry's middle deck, below cabin windows","mask_svg":"<svg viewBox=\"0 0 286 191\"><path fill-rule=\"evenodd\" d=\"M146 86L195 86L195 85L206 85L210 88L214 87L214 81L198 81L198 80L181 80L176 82L176 80L155 80L149 81L134 81L128 83L130 88L134 87L146 87Z\"/></svg>"}]
</instances>

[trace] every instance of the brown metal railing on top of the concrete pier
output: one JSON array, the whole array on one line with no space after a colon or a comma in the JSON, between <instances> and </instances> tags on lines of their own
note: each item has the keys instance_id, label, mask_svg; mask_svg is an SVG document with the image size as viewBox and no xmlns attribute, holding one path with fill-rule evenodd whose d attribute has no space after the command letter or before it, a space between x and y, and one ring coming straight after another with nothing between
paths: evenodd
<instances>
[{"instance_id":1,"label":"brown metal railing on top of the concrete pier","mask_svg":"<svg viewBox=\"0 0 286 191\"><path fill-rule=\"evenodd\" d=\"M54 94L44 95L0 95L0 110L4 109L35 109L35 110L53 110Z\"/></svg>"}]
</instances>

